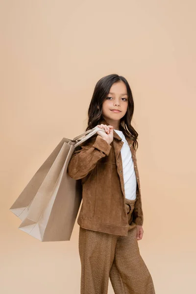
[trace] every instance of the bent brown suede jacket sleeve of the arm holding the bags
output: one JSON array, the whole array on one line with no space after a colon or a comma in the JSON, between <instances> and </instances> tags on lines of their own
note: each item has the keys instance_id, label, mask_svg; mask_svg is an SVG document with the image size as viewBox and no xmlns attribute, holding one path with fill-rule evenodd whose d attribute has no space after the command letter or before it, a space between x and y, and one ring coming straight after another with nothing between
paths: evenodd
<instances>
[{"instance_id":1,"label":"bent brown suede jacket sleeve of the arm holding the bags","mask_svg":"<svg viewBox=\"0 0 196 294\"><path fill-rule=\"evenodd\" d=\"M101 136L94 135L80 145L80 150L75 150L68 164L68 174L75 180L85 177L93 170L99 159L109 155L111 145Z\"/></svg>"}]
</instances>

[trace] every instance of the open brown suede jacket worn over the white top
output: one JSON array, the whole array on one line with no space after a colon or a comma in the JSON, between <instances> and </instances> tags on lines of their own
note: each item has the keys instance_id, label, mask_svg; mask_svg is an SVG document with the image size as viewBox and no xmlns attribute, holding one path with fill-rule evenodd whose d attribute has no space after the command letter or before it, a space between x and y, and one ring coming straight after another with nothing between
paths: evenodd
<instances>
[{"instance_id":1,"label":"open brown suede jacket worn over the white top","mask_svg":"<svg viewBox=\"0 0 196 294\"><path fill-rule=\"evenodd\" d=\"M108 125L104 120L101 123ZM100 124L101 124L100 123ZM143 225L143 211L139 172L133 141L126 137L130 146L137 179L136 202L133 224ZM114 139L108 144L97 133L75 150L68 165L68 174L81 179L82 206L77 223L86 229L127 236L128 222L125 207L123 141L114 131Z\"/></svg>"}]
</instances>

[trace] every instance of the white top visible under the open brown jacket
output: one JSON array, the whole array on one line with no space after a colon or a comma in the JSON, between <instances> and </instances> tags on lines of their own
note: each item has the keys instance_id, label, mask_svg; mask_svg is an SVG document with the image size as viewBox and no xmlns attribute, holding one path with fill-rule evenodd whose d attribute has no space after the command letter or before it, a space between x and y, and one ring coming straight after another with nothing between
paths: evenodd
<instances>
[{"instance_id":1,"label":"white top visible under the open brown jacket","mask_svg":"<svg viewBox=\"0 0 196 294\"><path fill-rule=\"evenodd\" d=\"M125 198L136 199L137 180L134 170L134 163L132 159L131 150L122 131L115 130L121 137L123 146L121 148L121 157L123 161L123 179Z\"/></svg>"}]
</instances>

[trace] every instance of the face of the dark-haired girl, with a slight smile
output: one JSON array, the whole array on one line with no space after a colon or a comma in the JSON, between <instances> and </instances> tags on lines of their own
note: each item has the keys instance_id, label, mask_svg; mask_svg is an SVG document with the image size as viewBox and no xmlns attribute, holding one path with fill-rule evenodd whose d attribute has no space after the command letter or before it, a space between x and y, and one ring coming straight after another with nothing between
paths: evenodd
<instances>
[{"instance_id":1,"label":"face of the dark-haired girl, with a slight smile","mask_svg":"<svg viewBox=\"0 0 196 294\"><path fill-rule=\"evenodd\" d=\"M110 88L110 92L102 103L103 116L111 121L120 121L125 115L128 107L128 96L126 86L123 81L116 82ZM121 112L111 111L118 109Z\"/></svg>"}]
</instances>

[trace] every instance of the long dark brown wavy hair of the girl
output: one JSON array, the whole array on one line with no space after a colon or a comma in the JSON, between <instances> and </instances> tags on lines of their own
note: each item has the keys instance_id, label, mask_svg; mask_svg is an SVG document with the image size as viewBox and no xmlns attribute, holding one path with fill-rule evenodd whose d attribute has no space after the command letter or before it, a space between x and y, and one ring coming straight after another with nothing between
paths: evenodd
<instances>
[{"instance_id":1,"label":"long dark brown wavy hair of the girl","mask_svg":"<svg viewBox=\"0 0 196 294\"><path fill-rule=\"evenodd\" d=\"M106 99L108 93L110 92L111 86L118 81L124 82L124 84L126 85L126 90L128 95L127 111L120 121L119 129L123 132L125 137L128 137L134 141L133 147L135 150L137 150L138 133L134 129L134 127L131 125L131 120L132 120L133 112L134 112L134 101L133 101L131 88L127 80L125 79L125 77L123 77L122 75L118 75L115 73L109 74L109 75L103 76L101 79L98 80L93 92L90 105L89 105L88 126L85 131L94 128L96 125L100 124L102 120L104 120L102 116L102 103ZM99 106L99 109L98 109L98 106Z\"/></svg>"}]
</instances>

